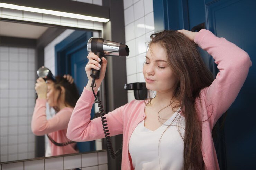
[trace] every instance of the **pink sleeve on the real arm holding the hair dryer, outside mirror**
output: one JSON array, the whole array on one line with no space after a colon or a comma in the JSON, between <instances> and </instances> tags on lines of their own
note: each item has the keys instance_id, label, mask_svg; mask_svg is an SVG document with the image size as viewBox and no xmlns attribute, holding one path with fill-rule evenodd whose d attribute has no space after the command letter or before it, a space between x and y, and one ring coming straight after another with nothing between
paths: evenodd
<instances>
[{"instance_id":1,"label":"pink sleeve on the real arm holding the hair dryer, outside mirror","mask_svg":"<svg viewBox=\"0 0 256 170\"><path fill-rule=\"evenodd\" d=\"M104 131L102 128L101 118L90 120L90 113L94 103L93 92L84 90L81 97L76 103L73 113L68 123L67 138L73 141L91 141L104 138ZM123 110L127 106L121 106L108 114L107 120L108 130L111 132L110 136L123 133Z\"/></svg>"}]
</instances>

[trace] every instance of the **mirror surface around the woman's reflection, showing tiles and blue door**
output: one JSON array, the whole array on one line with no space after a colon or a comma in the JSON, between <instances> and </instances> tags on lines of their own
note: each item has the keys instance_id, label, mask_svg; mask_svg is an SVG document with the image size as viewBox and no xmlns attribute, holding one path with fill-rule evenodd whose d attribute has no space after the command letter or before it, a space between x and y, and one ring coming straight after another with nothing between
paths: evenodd
<instances>
[{"instance_id":1,"label":"mirror surface around the woman's reflection, showing tiles and blue door","mask_svg":"<svg viewBox=\"0 0 256 170\"><path fill-rule=\"evenodd\" d=\"M53 75L56 72L60 75L73 74L80 95L86 86L86 80L78 81L86 75L83 65L86 65L84 60L87 60L85 39L99 37L100 33L40 23L0 21L1 163L45 156L48 137L35 136L31 130L36 99L36 71L44 65ZM85 34L87 37L80 41ZM57 68L55 62L59 64ZM78 69L77 72L83 70L84 75L75 73L74 69ZM98 112L96 106L92 112ZM55 116L55 110L48 105L46 116L47 119ZM80 152L102 150L102 140L79 142L76 146Z\"/></svg>"}]
</instances>

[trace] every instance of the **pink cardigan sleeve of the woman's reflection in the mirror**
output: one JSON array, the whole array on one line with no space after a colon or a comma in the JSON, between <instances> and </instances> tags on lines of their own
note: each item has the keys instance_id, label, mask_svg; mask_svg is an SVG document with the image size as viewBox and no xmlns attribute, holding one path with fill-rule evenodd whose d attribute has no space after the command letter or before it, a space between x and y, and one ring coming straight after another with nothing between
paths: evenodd
<instances>
[{"instance_id":1,"label":"pink cardigan sleeve of the woman's reflection in the mirror","mask_svg":"<svg viewBox=\"0 0 256 170\"><path fill-rule=\"evenodd\" d=\"M31 128L35 135L44 135L58 130L67 129L72 109L61 109L51 119L46 119L46 100L37 99L32 116Z\"/></svg>"}]
</instances>

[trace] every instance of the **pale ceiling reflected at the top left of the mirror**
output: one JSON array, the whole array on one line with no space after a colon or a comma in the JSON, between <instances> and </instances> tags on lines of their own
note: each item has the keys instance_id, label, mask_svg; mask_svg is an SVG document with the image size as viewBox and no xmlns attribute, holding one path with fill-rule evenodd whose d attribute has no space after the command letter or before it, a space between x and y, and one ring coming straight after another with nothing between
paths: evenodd
<instances>
[{"instance_id":1,"label":"pale ceiling reflected at the top left of the mirror","mask_svg":"<svg viewBox=\"0 0 256 170\"><path fill-rule=\"evenodd\" d=\"M0 35L38 39L49 27L0 21Z\"/></svg>"}]
</instances>

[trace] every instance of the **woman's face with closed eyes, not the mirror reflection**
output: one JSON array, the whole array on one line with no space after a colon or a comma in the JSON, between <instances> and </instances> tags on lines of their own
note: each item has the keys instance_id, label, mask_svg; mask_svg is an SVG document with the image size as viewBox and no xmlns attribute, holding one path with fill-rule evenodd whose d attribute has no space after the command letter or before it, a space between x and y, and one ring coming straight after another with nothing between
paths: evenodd
<instances>
[{"instance_id":1,"label":"woman's face with closed eyes, not the mirror reflection","mask_svg":"<svg viewBox=\"0 0 256 170\"><path fill-rule=\"evenodd\" d=\"M147 89L168 92L175 88L177 77L168 66L165 50L158 44L151 44L143 66Z\"/></svg>"}]
</instances>

